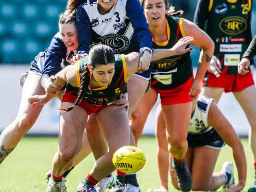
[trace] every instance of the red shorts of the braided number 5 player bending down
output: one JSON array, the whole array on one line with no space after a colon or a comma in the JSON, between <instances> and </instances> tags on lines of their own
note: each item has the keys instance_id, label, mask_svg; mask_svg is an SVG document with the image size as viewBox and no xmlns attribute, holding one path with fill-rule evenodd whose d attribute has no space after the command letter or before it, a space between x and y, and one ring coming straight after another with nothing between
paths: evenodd
<instances>
[{"instance_id":1,"label":"red shorts of the braided number 5 player bending down","mask_svg":"<svg viewBox=\"0 0 256 192\"><path fill-rule=\"evenodd\" d=\"M74 103L77 99L77 96L74 96L72 92L65 92L63 95L63 98L61 100L62 102L69 102L69 103ZM91 103L86 102L85 100L82 100L78 106L82 107L88 115L91 113L97 114L101 109L104 107L107 107L107 105L93 105Z\"/></svg>"}]
</instances>

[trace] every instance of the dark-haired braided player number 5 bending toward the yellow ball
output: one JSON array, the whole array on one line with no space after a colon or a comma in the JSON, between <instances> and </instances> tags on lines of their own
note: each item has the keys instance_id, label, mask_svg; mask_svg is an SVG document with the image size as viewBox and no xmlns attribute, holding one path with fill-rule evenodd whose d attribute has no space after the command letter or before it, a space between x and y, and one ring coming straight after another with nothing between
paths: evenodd
<instances>
[{"instance_id":1,"label":"dark-haired braided player number 5 bending toward the yellow ball","mask_svg":"<svg viewBox=\"0 0 256 192\"><path fill-rule=\"evenodd\" d=\"M152 60L168 55L184 54L193 37L185 37L171 49L154 50ZM111 174L115 167L112 163L113 153L130 144L130 127L128 108L119 109L113 102L126 90L128 79L137 72L140 53L114 55L113 50L103 44L93 46L88 57L69 65L54 79L54 84L63 86L67 83L61 103L59 122L59 148L53 159L52 177L46 192L60 192L63 173L72 168L74 157L81 150L82 133L86 127L87 117L96 114L101 132L106 138L109 152L100 157L93 169L79 183L78 192L96 192L94 186ZM79 88L78 88L79 87ZM54 95L32 96L29 103L33 106L44 105ZM130 186L126 192L140 192L138 187Z\"/></svg>"}]
</instances>

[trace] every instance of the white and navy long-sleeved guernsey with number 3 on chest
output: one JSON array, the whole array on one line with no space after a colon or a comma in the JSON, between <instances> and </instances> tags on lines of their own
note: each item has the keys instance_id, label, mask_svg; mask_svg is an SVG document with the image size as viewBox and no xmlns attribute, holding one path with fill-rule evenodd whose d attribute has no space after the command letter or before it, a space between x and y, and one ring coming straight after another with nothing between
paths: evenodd
<instances>
[{"instance_id":1,"label":"white and navy long-sleeved guernsey with number 3 on chest","mask_svg":"<svg viewBox=\"0 0 256 192\"><path fill-rule=\"evenodd\" d=\"M138 0L117 0L101 15L97 0L85 0L77 10L78 54L86 55L92 43L102 42L116 53L152 50L151 35Z\"/></svg>"}]
</instances>

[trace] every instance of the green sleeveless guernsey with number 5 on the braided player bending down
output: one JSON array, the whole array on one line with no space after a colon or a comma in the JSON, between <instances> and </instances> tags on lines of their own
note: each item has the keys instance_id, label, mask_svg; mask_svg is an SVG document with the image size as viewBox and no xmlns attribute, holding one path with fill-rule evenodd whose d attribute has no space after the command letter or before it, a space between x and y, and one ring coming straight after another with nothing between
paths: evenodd
<instances>
[{"instance_id":1,"label":"green sleeveless guernsey with number 5 on the braided player bending down","mask_svg":"<svg viewBox=\"0 0 256 192\"><path fill-rule=\"evenodd\" d=\"M76 62L78 87L81 86L82 74L87 63L88 57L83 57ZM91 81L92 73L88 75ZM90 83L88 83L83 99L93 105L110 105L115 102L115 100L118 100L119 95L126 90L126 83L128 83L128 78L124 55L117 54L115 55L115 74L109 84L105 87L91 89ZM66 91L72 92L72 94L77 96L78 90L79 88L73 87L71 84L67 83Z\"/></svg>"}]
</instances>

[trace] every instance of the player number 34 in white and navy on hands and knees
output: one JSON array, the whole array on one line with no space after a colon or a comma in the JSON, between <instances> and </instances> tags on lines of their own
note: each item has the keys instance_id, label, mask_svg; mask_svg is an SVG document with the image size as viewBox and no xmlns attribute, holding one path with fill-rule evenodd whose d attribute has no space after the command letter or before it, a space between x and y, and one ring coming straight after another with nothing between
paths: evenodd
<instances>
[{"instance_id":1,"label":"player number 34 in white and navy on hands and knees","mask_svg":"<svg viewBox=\"0 0 256 192\"><path fill-rule=\"evenodd\" d=\"M156 119L158 170L161 189L148 191L165 192L168 189L167 166L169 166L169 153L168 141L163 139L166 137L165 120L160 105L156 112ZM193 178L192 190L215 191L222 185L226 192L241 191L244 188L247 163L243 145L213 99L199 96L198 100L193 100L187 142L189 147L185 162ZM221 172L213 172L219 152L225 142L233 150L239 178L239 183L236 186L234 186L234 170L231 162L224 162ZM170 166L172 183L175 188L179 189L176 174L172 171L172 164Z\"/></svg>"}]
</instances>

